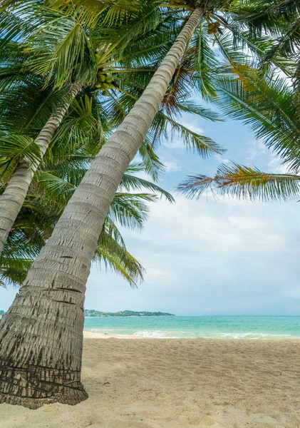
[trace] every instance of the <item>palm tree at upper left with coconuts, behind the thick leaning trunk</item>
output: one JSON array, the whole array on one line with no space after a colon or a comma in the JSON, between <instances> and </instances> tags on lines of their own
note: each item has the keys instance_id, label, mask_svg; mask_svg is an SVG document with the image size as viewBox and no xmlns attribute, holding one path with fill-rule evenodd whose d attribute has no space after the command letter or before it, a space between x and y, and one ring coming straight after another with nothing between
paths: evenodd
<instances>
[{"instance_id":1,"label":"palm tree at upper left with coconuts, behind the thick leaning trunk","mask_svg":"<svg viewBox=\"0 0 300 428\"><path fill-rule=\"evenodd\" d=\"M56 105L53 105L56 113L52 114L50 118L46 118L46 125L43 126L35 140L31 138L29 141L26 138L24 128L20 130L22 136L19 133L16 134L16 124L14 123L14 135L11 136L10 134L3 141L4 146L9 143L10 151L11 141L14 141L15 148L19 145L20 150L17 151L17 156L13 152L14 159L17 157L18 161L12 170L7 168L11 166L9 158L4 159L3 162L9 183L0 198L0 253L16 215L24 202L33 174L38 168L54 133L61 124L72 99L76 98L79 92L86 90L86 84L91 85L91 90L96 89L95 86L100 86L96 83L97 79L105 78L109 73L110 80L112 77L114 80L112 83L104 84L111 86L112 90L103 91L103 94L111 97L108 109L114 115L118 113L115 117L115 124L118 123L116 119L123 118L128 109L133 106L133 102L140 96L145 84L152 76L157 58L163 54L167 41L172 41L177 32L177 25L171 31L165 31L170 16L158 14L155 2L136 1L134 7L132 4L120 2L120 6L110 4L109 8L107 2L99 2L98 7L100 9L97 10L96 14L93 8L93 14L90 14L90 9L88 9L89 14L84 14L82 10L78 10L74 14L74 10L66 5L62 9L58 7L58 10L54 10L51 9L51 3L48 3L48 7L44 8L39 5L36 6L34 1L29 1L25 2L26 6L20 6L17 3L16 9L14 9L14 1L4 3L3 6L9 6L14 12L8 16L5 14L4 20L6 34L3 58L5 66L2 72L4 75L2 81L4 80L5 85L2 86L2 89L13 86L11 96L6 95L4 97L4 111L15 96L14 86L16 86L16 82L19 83L21 80L21 85L24 85L25 79L26 84L28 84L31 75L33 75L31 79L34 80L35 86L37 83L41 84L36 76L46 76L47 84L53 85L54 88L61 88L63 91L61 90L59 93L60 103L57 104L56 100ZM28 9L28 5L32 6L32 4L33 7ZM59 4L55 2L53 8L57 6ZM138 9L137 6L139 6ZM26 14L24 14L25 8ZM125 23L123 14L126 14ZM113 18L114 16L118 16L118 19ZM120 21L122 26L120 26ZM22 31L18 33L20 28ZM151 46L145 46L143 37L146 33ZM16 45L16 34L21 39L21 46ZM159 34L159 38L157 38L157 34ZM45 38L47 44L43 43ZM20 61L21 57L21 66L17 61L13 61L11 64L12 54L9 51L9 44L14 51L18 51L19 56L15 56L15 59ZM128 54L124 54L125 49ZM8 59L12 71L11 67L7 67ZM145 61L146 67L143 66ZM70 81L73 81L71 86ZM21 88L23 89L22 86ZM133 90L133 88L135 89ZM71 96L68 96L69 91L71 91ZM115 95L115 91L122 93L123 98ZM56 98L57 96L58 91L56 91ZM46 100L48 101L48 95ZM182 100L178 109L185 111L189 107L185 106L185 102ZM41 113L39 110L40 107L37 111ZM203 108L198 110L193 108L192 112L212 120L216 118L213 113L205 111ZM16 109L10 112L10 116L12 113L16 116ZM36 112L33 112L33 117L34 115ZM164 116L164 121L167 119L168 117ZM45 118L43 120L45 121ZM6 114L4 114L4 121L7 121ZM217 146L214 146L209 138L191 133L187 128L173 121L172 118L168 123L172 128L177 128L177 131L182 131L188 144L196 147L198 151L217 150ZM161 123L159 125L161 132L163 127ZM27 128L28 125L25 127ZM157 136L157 131L150 130L150 132ZM4 148L4 146L2 147ZM29 150L33 151L31 158L29 158ZM22 154L21 162L20 152ZM146 165L148 172L152 169L157 174L160 169L160 162L155 158L152 151L150 138L146 138L143 142L140 147L140 154L148 162Z\"/></svg>"}]
</instances>

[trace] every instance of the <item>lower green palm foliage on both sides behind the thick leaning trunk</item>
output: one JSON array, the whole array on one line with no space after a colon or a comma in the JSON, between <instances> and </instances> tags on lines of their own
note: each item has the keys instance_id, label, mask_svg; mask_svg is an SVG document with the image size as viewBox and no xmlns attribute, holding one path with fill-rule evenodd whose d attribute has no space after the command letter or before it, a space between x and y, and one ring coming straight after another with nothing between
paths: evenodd
<instances>
[{"instance_id":1,"label":"lower green palm foliage on both sides behind the thick leaning trunk","mask_svg":"<svg viewBox=\"0 0 300 428\"><path fill-rule=\"evenodd\" d=\"M95 158L103 133L107 133L105 111L98 98L76 99L63 118L52 146L33 176L24 205L16 218L0 256L2 283L21 285L31 263L51 236L63 208L79 185ZM155 183L138 178L145 170L143 162L130 165L123 176L110 212L100 234L94 263L110 267L135 286L143 279L143 269L125 248L118 232L119 223L125 228L140 230L148 214L145 201L164 196L171 203L172 196ZM132 190L135 193L130 193ZM152 193L141 193L150 190ZM138 192L138 193L136 193Z\"/></svg>"}]
</instances>

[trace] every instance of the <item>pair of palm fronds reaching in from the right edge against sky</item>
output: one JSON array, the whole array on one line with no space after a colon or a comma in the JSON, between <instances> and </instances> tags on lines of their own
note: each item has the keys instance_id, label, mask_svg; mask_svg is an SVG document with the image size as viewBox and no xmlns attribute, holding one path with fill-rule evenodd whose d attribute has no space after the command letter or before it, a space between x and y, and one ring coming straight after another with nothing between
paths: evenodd
<instances>
[{"instance_id":1,"label":"pair of palm fronds reaching in from the right edge against sky","mask_svg":"<svg viewBox=\"0 0 300 428\"><path fill-rule=\"evenodd\" d=\"M232 64L219 80L219 106L230 118L251 126L257 138L281 159L283 173L222 163L213 178L190 175L177 186L189 198L211 189L223 195L250 200L299 200L300 122L294 86L275 71L257 69L250 63ZM234 77L235 76L235 77Z\"/></svg>"}]
</instances>

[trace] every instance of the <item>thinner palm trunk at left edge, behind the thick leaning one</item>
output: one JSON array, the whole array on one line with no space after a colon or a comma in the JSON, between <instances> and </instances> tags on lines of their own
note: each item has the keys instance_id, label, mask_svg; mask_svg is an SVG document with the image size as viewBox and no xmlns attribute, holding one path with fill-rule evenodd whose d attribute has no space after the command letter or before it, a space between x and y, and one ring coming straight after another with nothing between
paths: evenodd
<instances>
[{"instance_id":1,"label":"thinner palm trunk at left edge, behind the thick leaning one","mask_svg":"<svg viewBox=\"0 0 300 428\"><path fill-rule=\"evenodd\" d=\"M80 90L81 86L73 85L71 87L71 95L75 97ZM41 158L43 158L54 133L63 120L68 106L69 103L66 103L65 106L58 108L56 114L48 119L46 125L36 137L35 143L40 149ZM25 162L21 162L11 180L9 180L4 193L0 196L0 255L16 216L24 203L33 174L37 168L37 162L31 165L31 168Z\"/></svg>"}]
</instances>

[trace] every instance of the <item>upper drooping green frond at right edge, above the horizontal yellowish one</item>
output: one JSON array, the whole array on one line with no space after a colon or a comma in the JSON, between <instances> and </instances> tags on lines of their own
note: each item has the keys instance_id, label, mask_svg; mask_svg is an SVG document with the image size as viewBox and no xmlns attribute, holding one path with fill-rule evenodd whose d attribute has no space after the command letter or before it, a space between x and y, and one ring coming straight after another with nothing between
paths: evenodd
<instances>
[{"instance_id":1,"label":"upper drooping green frond at right edge, above the horizontal yellowish one","mask_svg":"<svg viewBox=\"0 0 300 428\"><path fill-rule=\"evenodd\" d=\"M219 106L229 118L244 121L295 172L299 168L298 106L289 83L274 73L234 64L219 78ZM235 77L234 77L235 74Z\"/></svg>"}]
</instances>

